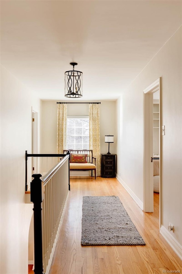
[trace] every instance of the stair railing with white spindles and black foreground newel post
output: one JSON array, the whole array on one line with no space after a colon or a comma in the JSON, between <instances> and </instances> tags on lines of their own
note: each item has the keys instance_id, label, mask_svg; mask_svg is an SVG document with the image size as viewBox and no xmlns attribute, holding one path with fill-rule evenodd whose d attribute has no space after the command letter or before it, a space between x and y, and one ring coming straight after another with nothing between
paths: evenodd
<instances>
[{"instance_id":1,"label":"stair railing with white spindles and black foreground newel post","mask_svg":"<svg viewBox=\"0 0 182 274\"><path fill-rule=\"evenodd\" d=\"M53 252L59 234L59 227L61 225L70 190L69 155L65 156L45 176L43 176L42 180L40 179L41 175L42 174L33 174L34 180L32 180L30 184L30 198L31 202L34 203L34 214L40 216L42 224L42 231L40 231L40 218L34 217L34 239L37 239L37 242L34 241L35 274L43 273L43 269L44 273L48 273L51 265ZM36 186L38 187L37 190ZM36 191L38 191L39 194ZM36 200L38 204L42 205L42 212L40 211L41 206L37 206ZM40 213L37 213L36 210L40 211ZM38 231L36 231L37 228ZM42 237L41 240L39 239L40 237ZM40 251L41 246L42 252ZM36 249L39 250L37 258Z\"/></svg>"}]
</instances>

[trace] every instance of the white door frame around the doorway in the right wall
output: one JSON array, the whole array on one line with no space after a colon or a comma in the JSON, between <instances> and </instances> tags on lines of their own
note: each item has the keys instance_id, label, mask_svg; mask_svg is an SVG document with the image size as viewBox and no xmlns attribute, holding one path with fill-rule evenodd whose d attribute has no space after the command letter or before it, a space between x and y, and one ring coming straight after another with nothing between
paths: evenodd
<instances>
[{"instance_id":1,"label":"white door frame around the doorway in the right wall","mask_svg":"<svg viewBox=\"0 0 182 274\"><path fill-rule=\"evenodd\" d=\"M160 190L159 190L159 219L161 211L161 186L162 186L162 138L161 138L161 77L153 82L150 86L143 90L143 106L144 106L144 154L143 154L143 208L144 212L154 211L154 189L153 189L153 163L151 162L151 157L153 157L153 93L159 90L159 168L160 168ZM152 180L151 180L152 178ZM161 223L161 220L160 220Z\"/></svg>"}]
</instances>

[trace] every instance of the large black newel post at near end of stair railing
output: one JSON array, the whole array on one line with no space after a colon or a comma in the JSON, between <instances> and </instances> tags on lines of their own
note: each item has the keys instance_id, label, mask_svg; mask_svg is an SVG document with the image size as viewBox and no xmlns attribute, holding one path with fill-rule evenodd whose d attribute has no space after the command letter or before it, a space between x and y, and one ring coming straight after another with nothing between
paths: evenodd
<instances>
[{"instance_id":1,"label":"large black newel post at near end of stair railing","mask_svg":"<svg viewBox=\"0 0 182 274\"><path fill-rule=\"evenodd\" d=\"M43 274L42 262L42 201L44 186L41 174L33 174L30 183L30 201L34 203L34 273Z\"/></svg>"}]
</instances>

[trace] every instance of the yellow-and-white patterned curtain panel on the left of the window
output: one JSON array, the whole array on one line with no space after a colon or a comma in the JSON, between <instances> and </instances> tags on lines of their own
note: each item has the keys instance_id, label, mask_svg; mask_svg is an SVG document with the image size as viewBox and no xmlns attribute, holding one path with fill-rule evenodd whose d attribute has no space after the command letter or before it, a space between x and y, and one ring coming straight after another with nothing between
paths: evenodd
<instances>
[{"instance_id":1,"label":"yellow-and-white patterned curtain panel on the left of the window","mask_svg":"<svg viewBox=\"0 0 182 274\"><path fill-rule=\"evenodd\" d=\"M62 154L67 142L67 104L57 104L57 153Z\"/></svg>"}]
</instances>

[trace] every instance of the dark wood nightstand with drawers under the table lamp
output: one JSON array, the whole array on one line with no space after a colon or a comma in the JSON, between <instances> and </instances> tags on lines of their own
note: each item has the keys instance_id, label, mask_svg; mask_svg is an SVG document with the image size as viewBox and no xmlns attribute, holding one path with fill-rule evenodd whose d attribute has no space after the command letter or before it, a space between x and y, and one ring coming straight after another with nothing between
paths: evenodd
<instances>
[{"instance_id":1,"label":"dark wood nightstand with drawers under the table lamp","mask_svg":"<svg viewBox=\"0 0 182 274\"><path fill-rule=\"evenodd\" d=\"M116 154L101 154L101 177L116 177Z\"/></svg>"}]
</instances>

